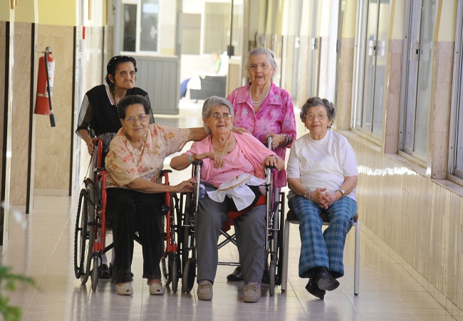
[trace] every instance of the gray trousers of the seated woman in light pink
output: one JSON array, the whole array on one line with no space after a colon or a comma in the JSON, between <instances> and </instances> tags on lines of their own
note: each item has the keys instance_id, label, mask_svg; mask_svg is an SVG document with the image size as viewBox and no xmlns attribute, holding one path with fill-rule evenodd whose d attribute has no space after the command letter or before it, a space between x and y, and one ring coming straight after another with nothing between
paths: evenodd
<instances>
[{"instance_id":1,"label":"gray trousers of the seated woman in light pink","mask_svg":"<svg viewBox=\"0 0 463 321\"><path fill-rule=\"evenodd\" d=\"M207 191L214 190L206 186ZM197 280L209 280L214 283L219 262L220 228L228 220L228 198L217 203L206 194L199 200L195 217L194 235L197 243ZM245 283L261 283L264 274L266 208L259 205L234 220L239 261L243 269Z\"/></svg>"}]
</instances>

